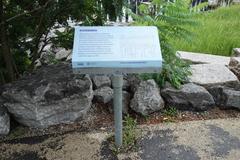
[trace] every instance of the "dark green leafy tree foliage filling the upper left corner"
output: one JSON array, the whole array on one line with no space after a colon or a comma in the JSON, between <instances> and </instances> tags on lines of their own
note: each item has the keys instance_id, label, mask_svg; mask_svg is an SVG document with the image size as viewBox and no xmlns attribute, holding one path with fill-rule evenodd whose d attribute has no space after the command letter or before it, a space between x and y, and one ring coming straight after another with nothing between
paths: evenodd
<instances>
[{"instance_id":1,"label":"dark green leafy tree foliage filling the upper left corner","mask_svg":"<svg viewBox=\"0 0 240 160\"><path fill-rule=\"evenodd\" d=\"M71 47L71 29L57 32L59 37L52 39L53 28L69 27L69 19L79 25L103 25L107 16L116 19L121 15L123 1L1 0L0 83L14 81L24 70L34 69L35 61L52 41L58 46Z\"/></svg>"}]
</instances>

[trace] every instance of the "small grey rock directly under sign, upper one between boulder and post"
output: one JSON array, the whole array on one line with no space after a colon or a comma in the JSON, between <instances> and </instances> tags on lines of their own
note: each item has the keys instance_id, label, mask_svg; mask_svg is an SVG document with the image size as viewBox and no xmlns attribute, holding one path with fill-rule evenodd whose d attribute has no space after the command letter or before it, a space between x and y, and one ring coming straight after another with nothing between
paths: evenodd
<instances>
[{"instance_id":1,"label":"small grey rock directly under sign, upper one between boulder and post","mask_svg":"<svg viewBox=\"0 0 240 160\"><path fill-rule=\"evenodd\" d=\"M98 89L103 86L111 86L111 80L108 76L93 76L92 82L95 89Z\"/></svg>"}]
</instances>

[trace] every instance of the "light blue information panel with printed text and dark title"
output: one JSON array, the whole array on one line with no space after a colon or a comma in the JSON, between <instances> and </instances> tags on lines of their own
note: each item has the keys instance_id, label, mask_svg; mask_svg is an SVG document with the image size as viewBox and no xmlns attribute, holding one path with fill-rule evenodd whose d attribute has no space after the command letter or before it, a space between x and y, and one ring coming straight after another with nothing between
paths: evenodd
<instances>
[{"instance_id":1,"label":"light blue information panel with printed text and dark title","mask_svg":"<svg viewBox=\"0 0 240 160\"><path fill-rule=\"evenodd\" d=\"M73 69L146 69L161 65L156 27L75 28Z\"/></svg>"}]
</instances>

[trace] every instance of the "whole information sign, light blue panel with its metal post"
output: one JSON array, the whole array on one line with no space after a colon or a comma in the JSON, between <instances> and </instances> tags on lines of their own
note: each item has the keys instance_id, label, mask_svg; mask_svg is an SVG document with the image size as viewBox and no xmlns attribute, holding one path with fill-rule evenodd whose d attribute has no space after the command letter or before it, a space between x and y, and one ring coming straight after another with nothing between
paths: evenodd
<instances>
[{"instance_id":1,"label":"whole information sign, light blue panel with its metal post","mask_svg":"<svg viewBox=\"0 0 240 160\"><path fill-rule=\"evenodd\" d=\"M112 75L115 144L120 147L122 74L161 71L158 30L156 27L76 27L72 68L76 74Z\"/></svg>"}]
</instances>

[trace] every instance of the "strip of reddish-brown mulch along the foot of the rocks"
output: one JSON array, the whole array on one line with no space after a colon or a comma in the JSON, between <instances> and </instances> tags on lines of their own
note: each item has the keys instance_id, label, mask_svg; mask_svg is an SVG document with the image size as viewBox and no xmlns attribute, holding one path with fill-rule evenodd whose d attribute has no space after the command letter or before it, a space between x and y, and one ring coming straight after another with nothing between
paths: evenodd
<instances>
[{"instance_id":1,"label":"strip of reddish-brown mulch along the foot of the rocks","mask_svg":"<svg viewBox=\"0 0 240 160\"><path fill-rule=\"evenodd\" d=\"M108 109L109 106L102 104L95 104L91 108L85 120L75 122L73 124L62 124L49 127L47 129L31 129L14 123L11 133L0 139L1 142L18 143L22 141L29 141L29 137L37 139L36 137L52 137L63 135L71 132L90 132L90 131L112 131L113 130L113 113ZM137 119L139 125L142 124L158 124L166 122L183 122L195 120L208 119L222 119L222 118L240 118L240 110L228 109L222 110L213 108L204 112L195 111L178 111L175 116L167 116L163 112L151 114L148 117L130 112L130 115ZM27 137L27 138L26 138ZM31 138L30 138L31 139ZM31 142L34 143L34 142Z\"/></svg>"}]
</instances>

